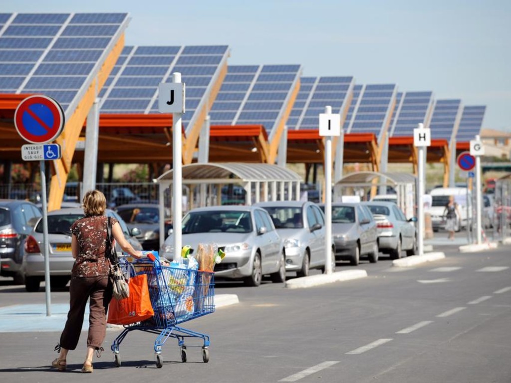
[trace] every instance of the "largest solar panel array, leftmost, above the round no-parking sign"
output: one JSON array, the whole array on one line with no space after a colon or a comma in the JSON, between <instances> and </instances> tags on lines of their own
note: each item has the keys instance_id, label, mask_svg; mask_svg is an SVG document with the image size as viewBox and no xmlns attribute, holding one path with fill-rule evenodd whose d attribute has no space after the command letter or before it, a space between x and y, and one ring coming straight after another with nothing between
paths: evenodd
<instances>
[{"instance_id":1,"label":"largest solar panel array, leftmost, above the round no-parking sign","mask_svg":"<svg viewBox=\"0 0 511 383\"><path fill-rule=\"evenodd\" d=\"M43 93L66 111L127 23L127 13L0 14L0 92Z\"/></svg>"}]
</instances>

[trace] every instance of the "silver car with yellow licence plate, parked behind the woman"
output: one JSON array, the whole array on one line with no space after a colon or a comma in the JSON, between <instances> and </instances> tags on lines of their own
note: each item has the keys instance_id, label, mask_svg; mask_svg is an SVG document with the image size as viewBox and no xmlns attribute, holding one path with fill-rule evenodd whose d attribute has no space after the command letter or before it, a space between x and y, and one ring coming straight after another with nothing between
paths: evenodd
<instances>
[{"instance_id":1,"label":"silver car with yellow licence plate, parked behind the woman","mask_svg":"<svg viewBox=\"0 0 511 383\"><path fill-rule=\"evenodd\" d=\"M126 240L135 250L142 250L142 245L132 235L126 223L119 214L107 209L106 215L119 221ZM48 252L50 255L51 285L64 288L71 279L71 270L75 259L71 253L71 225L84 216L82 208L65 208L48 212ZM25 288L29 292L39 291L39 285L44 280L44 252L43 252L42 219L34 227L25 241L25 255L23 258L25 270ZM119 244L116 250L121 252Z\"/></svg>"}]
</instances>

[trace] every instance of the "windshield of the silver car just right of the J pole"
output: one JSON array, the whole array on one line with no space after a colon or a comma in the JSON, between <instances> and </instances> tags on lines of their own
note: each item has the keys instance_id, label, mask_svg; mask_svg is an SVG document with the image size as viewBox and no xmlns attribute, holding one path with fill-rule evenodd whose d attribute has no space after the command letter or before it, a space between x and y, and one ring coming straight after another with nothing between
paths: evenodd
<instances>
[{"instance_id":1,"label":"windshield of the silver car just right of the J pole","mask_svg":"<svg viewBox=\"0 0 511 383\"><path fill-rule=\"evenodd\" d=\"M252 221L249 211L212 210L191 211L182 222L183 234L194 233L249 233L252 231Z\"/></svg>"}]
</instances>

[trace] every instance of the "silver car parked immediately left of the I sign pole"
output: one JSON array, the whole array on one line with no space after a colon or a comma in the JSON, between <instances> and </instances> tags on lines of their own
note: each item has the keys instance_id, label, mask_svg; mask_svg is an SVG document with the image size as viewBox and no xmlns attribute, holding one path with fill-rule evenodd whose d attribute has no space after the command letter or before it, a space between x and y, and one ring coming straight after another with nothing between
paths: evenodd
<instances>
[{"instance_id":1,"label":"silver car parked immediately left of the I sign pole","mask_svg":"<svg viewBox=\"0 0 511 383\"><path fill-rule=\"evenodd\" d=\"M296 276L306 277L309 269L325 270L324 215L312 202L276 201L260 202L270 214L277 233L284 241L286 270L295 271ZM335 252L333 244L332 271L335 271Z\"/></svg>"}]
</instances>

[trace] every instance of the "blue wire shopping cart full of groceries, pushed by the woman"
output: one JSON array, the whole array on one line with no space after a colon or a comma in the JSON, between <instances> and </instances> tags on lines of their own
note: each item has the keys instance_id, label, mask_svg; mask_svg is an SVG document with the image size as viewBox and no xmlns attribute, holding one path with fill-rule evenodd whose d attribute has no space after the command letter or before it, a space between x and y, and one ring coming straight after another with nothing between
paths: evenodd
<instances>
[{"instance_id":1,"label":"blue wire shopping cart full of groceries, pushed by the woman","mask_svg":"<svg viewBox=\"0 0 511 383\"><path fill-rule=\"evenodd\" d=\"M115 366L121 366L119 346L127 334L134 330L157 334L154 340L157 368L163 366L161 347L169 338L178 340L182 362L187 361L187 346L201 347L186 345L185 339L202 339L202 361L207 363L210 360L210 337L177 325L215 311L214 273L162 265L152 254L148 258L126 262L125 268L126 272L129 270L131 274L147 274L154 316L143 322L124 326L124 330L111 346Z\"/></svg>"}]
</instances>

